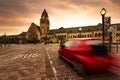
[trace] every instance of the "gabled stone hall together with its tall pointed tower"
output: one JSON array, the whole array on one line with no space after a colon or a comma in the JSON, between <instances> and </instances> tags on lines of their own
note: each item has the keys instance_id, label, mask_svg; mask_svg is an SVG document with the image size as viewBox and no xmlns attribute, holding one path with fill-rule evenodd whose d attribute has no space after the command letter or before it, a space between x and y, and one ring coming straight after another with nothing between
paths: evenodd
<instances>
[{"instance_id":1,"label":"gabled stone hall together with its tall pointed tower","mask_svg":"<svg viewBox=\"0 0 120 80\"><path fill-rule=\"evenodd\" d=\"M26 32L26 40L41 41L41 38L48 34L49 25L49 17L46 10L44 9L40 19L40 26L36 25L35 23L31 23L28 31Z\"/></svg>"}]
</instances>

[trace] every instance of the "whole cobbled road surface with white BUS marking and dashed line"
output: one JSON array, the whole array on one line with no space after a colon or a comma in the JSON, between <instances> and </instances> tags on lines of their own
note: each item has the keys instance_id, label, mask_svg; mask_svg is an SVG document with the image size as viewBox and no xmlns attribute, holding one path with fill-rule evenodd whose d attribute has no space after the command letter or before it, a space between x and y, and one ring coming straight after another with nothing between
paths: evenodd
<instances>
[{"instance_id":1,"label":"whole cobbled road surface with white BUS marking and dashed line","mask_svg":"<svg viewBox=\"0 0 120 80\"><path fill-rule=\"evenodd\" d=\"M58 49L58 44L26 44L0 50L0 80L120 80L120 67L109 73L80 76L58 58Z\"/></svg>"}]
</instances>

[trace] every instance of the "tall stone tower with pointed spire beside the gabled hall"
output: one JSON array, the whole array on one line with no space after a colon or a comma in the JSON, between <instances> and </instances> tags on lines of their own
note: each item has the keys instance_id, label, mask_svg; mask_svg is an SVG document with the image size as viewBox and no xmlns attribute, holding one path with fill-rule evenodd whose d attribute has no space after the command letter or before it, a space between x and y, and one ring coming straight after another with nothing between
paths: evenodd
<instances>
[{"instance_id":1,"label":"tall stone tower with pointed spire beside the gabled hall","mask_svg":"<svg viewBox=\"0 0 120 80\"><path fill-rule=\"evenodd\" d=\"M41 15L41 19L40 19L40 28L41 28L42 35L46 35L48 33L49 26L50 26L49 17L48 17L46 10L44 9Z\"/></svg>"}]
</instances>

